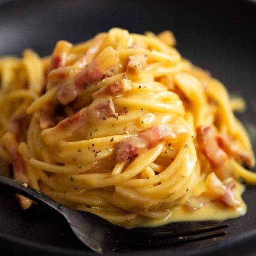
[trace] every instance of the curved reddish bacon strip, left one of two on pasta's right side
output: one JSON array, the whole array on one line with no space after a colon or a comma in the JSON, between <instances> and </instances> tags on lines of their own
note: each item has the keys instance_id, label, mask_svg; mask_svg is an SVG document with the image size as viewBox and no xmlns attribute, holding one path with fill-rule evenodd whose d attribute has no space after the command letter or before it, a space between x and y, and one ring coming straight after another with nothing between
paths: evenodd
<instances>
[{"instance_id":1,"label":"curved reddish bacon strip, left one of two on pasta's right side","mask_svg":"<svg viewBox=\"0 0 256 256\"><path fill-rule=\"evenodd\" d=\"M210 126L196 129L198 146L213 168L218 168L228 159L228 155L218 146L215 133Z\"/></svg>"}]
</instances>

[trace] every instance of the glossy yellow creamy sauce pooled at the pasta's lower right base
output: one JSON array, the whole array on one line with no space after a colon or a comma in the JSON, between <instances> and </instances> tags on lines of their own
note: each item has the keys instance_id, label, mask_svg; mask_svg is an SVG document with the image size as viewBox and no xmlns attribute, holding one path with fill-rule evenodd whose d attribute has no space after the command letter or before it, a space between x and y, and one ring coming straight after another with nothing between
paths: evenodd
<instances>
[{"instance_id":1,"label":"glossy yellow creamy sauce pooled at the pasta's lower right base","mask_svg":"<svg viewBox=\"0 0 256 256\"><path fill-rule=\"evenodd\" d=\"M199 188L201 190L201 188ZM245 186L237 183L234 188L234 193L241 204L237 208L227 207L219 201L211 202L203 208L192 211L187 209L184 205L172 207L170 214L164 219L154 219L146 223L147 227L166 225L170 222L178 221L207 221L207 220L226 220L228 218L237 218L246 213L246 204L242 200L242 193L245 191Z\"/></svg>"}]
</instances>

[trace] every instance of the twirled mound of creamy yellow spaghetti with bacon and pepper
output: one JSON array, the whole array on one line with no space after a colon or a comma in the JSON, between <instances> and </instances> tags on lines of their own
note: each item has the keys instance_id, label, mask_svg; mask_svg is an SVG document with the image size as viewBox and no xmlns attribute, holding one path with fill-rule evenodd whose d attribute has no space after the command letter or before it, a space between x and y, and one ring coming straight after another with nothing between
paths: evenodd
<instances>
[{"instance_id":1,"label":"twirled mound of creamy yellow spaghetti with bacon and pepper","mask_svg":"<svg viewBox=\"0 0 256 256\"><path fill-rule=\"evenodd\" d=\"M2 57L0 156L14 179L127 228L244 214L255 159L233 111L245 103L175 43L112 28L49 57Z\"/></svg>"}]
</instances>

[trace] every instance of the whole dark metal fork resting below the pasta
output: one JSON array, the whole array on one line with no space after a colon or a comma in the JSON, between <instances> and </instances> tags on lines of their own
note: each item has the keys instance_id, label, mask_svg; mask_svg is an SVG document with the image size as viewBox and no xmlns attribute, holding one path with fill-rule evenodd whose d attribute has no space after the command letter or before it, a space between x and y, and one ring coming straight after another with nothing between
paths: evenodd
<instances>
[{"instance_id":1,"label":"whole dark metal fork resting below the pasta","mask_svg":"<svg viewBox=\"0 0 256 256\"><path fill-rule=\"evenodd\" d=\"M228 225L205 225L198 222L195 225L174 224L173 228L160 229L160 231L158 229L157 232L154 228L125 229L110 224L95 214L68 209L42 192L26 187L9 177L0 176L0 185L37 203L47 204L63 214L80 241L101 254L113 251L130 253L143 249L159 250L188 242L216 239L224 236L226 234L224 229L228 227Z\"/></svg>"}]
</instances>

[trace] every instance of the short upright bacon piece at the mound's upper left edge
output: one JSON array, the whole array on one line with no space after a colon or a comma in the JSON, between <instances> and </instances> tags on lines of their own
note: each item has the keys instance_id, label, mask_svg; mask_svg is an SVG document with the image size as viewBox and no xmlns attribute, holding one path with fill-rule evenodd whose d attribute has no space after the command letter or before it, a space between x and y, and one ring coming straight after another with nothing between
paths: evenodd
<instances>
[{"instance_id":1,"label":"short upright bacon piece at the mound's upper left edge","mask_svg":"<svg viewBox=\"0 0 256 256\"><path fill-rule=\"evenodd\" d=\"M64 67L67 61L68 52L71 50L73 45L67 41L61 40L57 42L51 58L51 64L49 65L49 71L52 69Z\"/></svg>"}]
</instances>

